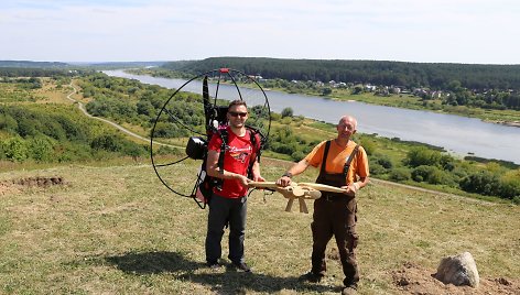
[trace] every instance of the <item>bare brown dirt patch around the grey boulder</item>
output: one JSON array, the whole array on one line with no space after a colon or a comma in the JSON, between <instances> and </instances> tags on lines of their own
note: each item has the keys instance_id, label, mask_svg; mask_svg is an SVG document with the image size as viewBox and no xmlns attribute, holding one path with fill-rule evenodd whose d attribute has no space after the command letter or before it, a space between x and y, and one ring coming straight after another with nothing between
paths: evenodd
<instances>
[{"instance_id":1,"label":"bare brown dirt patch around the grey boulder","mask_svg":"<svg viewBox=\"0 0 520 295\"><path fill-rule=\"evenodd\" d=\"M436 294L520 294L520 280L516 278L486 278L480 277L477 288L470 286L445 285L433 277L436 270L427 270L413 263L405 263L399 271L392 272L393 284L407 294L436 295Z\"/></svg>"}]
</instances>

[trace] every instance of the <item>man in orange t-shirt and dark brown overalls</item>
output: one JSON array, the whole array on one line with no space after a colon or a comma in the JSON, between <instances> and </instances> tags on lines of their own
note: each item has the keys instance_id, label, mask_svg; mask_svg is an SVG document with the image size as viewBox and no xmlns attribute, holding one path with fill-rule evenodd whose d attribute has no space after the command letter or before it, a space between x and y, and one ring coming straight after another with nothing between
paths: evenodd
<instances>
[{"instance_id":1,"label":"man in orange t-shirt and dark brown overalls","mask_svg":"<svg viewBox=\"0 0 520 295\"><path fill-rule=\"evenodd\" d=\"M368 157L362 146L350 138L356 133L357 121L344 116L337 127L337 138L324 141L302 161L289 168L277 181L280 186L291 184L291 177L304 172L308 166L319 167L318 184L345 188L345 194L322 192L322 197L314 201L313 252L311 272L304 278L319 282L327 266L325 250L334 236L342 260L345 287L342 294L355 294L359 282L359 271L355 249L358 242L356 233L356 193L368 184Z\"/></svg>"}]
</instances>

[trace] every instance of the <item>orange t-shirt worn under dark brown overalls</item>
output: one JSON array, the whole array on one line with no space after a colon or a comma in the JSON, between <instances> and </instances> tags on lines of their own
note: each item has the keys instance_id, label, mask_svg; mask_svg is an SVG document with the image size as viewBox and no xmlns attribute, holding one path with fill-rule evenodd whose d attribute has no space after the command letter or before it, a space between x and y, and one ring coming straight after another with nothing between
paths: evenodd
<instances>
[{"instance_id":1,"label":"orange t-shirt worn under dark brown overalls","mask_svg":"<svg viewBox=\"0 0 520 295\"><path fill-rule=\"evenodd\" d=\"M314 150L305 156L305 160L310 163L313 167L319 167L323 161L323 153L325 152L325 142L323 141ZM331 142L331 148L328 149L327 154L327 163L325 165L325 172L335 174L335 173L343 173L343 168L345 167L345 163L347 162L348 156L354 151L356 143L354 141L349 141L346 149L339 146L336 141ZM359 177L368 177L368 156L367 152L362 146L359 146L358 153L356 157L354 157L353 162L350 163L350 167L348 168L347 173L347 184L353 184L357 182L357 176Z\"/></svg>"}]
</instances>

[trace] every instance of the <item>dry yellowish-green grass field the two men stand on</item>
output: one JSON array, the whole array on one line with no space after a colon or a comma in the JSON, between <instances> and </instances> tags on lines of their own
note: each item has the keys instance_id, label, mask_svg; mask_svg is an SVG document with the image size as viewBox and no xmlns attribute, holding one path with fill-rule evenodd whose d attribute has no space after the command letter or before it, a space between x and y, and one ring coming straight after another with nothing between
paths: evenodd
<instances>
[{"instance_id":1,"label":"dry yellowish-green grass field the two men stand on","mask_svg":"<svg viewBox=\"0 0 520 295\"><path fill-rule=\"evenodd\" d=\"M269 181L288 165L269 159L262 164ZM172 170L172 177L189 186L183 177L194 168ZM312 181L315 173L296 181ZM56 176L64 183L29 182ZM404 263L434 273L442 258L464 251L474 255L480 277L520 277L518 206L379 182L358 198L359 294L401 294L391 274ZM147 163L0 173L0 293L337 293L343 280L337 261L329 261L321 284L297 280L310 269L307 205L310 215L285 212L281 195L253 192L246 233L253 273L214 272L204 264L207 210L169 193Z\"/></svg>"}]
</instances>

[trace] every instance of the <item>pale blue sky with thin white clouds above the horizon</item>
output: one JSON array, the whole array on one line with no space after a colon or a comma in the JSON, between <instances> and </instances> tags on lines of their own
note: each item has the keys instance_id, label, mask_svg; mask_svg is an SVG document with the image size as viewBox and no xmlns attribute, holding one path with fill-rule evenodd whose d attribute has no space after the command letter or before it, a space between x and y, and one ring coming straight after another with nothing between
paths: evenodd
<instances>
[{"instance_id":1,"label":"pale blue sky with thin white clouds above the horizon","mask_svg":"<svg viewBox=\"0 0 520 295\"><path fill-rule=\"evenodd\" d=\"M2 0L0 59L520 64L516 0Z\"/></svg>"}]
</instances>

